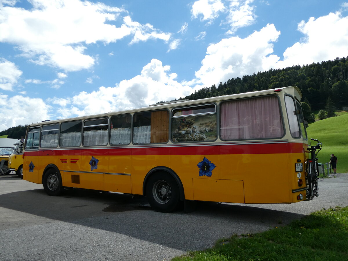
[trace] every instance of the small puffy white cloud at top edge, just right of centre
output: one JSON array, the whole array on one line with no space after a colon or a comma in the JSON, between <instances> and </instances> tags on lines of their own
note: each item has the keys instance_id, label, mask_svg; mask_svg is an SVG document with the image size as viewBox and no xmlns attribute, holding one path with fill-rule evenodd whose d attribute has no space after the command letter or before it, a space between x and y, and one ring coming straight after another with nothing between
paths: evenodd
<instances>
[{"instance_id":1,"label":"small puffy white cloud at top edge, just right of centre","mask_svg":"<svg viewBox=\"0 0 348 261\"><path fill-rule=\"evenodd\" d=\"M203 15L201 21L213 20L219 17L225 6L220 0L198 0L193 3L191 13L193 18Z\"/></svg>"}]
</instances>

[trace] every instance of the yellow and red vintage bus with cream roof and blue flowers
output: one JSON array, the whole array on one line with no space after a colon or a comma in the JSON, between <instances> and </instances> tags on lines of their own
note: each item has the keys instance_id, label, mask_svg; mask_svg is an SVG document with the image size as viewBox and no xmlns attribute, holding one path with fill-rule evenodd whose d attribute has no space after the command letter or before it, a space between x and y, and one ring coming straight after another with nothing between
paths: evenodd
<instances>
[{"instance_id":1,"label":"yellow and red vintage bus with cream roof and blue flowers","mask_svg":"<svg viewBox=\"0 0 348 261\"><path fill-rule=\"evenodd\" d=\"M291 86L32 124L24 179L52 196L144 195L161 212L190 200L309 200L300 100Z\"/></svg>"}]
</instances>

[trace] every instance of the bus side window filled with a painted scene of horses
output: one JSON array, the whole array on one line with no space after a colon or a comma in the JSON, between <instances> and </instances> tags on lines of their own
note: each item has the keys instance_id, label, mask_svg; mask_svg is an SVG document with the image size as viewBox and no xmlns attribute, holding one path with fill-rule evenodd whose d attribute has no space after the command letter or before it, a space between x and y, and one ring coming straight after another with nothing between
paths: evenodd
<instances>
[{"instance_id":1,"label":"bus side window filled with a painted scene of horses","mask_svg":"<svg viewBox=\"0 0 348 261\"><path fill-rule=\"evenodd\" d=\"M214 104L173 111L173 142L214 140L216 140L216 110Z\"/></svg>"}]
</instances>

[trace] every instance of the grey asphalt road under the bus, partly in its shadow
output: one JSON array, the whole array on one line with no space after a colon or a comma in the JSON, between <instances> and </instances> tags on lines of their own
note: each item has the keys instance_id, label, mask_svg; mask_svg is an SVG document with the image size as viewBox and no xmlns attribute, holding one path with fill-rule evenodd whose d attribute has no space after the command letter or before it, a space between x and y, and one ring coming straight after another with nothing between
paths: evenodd
<instances>
[{"instance_id":1,"label":"grey asphalt road under the bus, partly in its shadow","mask_svg":"<svg viewBox=\"0 0 348 261\"><path fill-rule=\"evenodd\" d=\"M170 260L222 237L347 206L348 174L335 176L319 182L312 201L199 203L194 212L170 214L153 211L143 197L79 189L50 197L42 185L0 176L0 260Z\"/></svg>"}]
</instances>

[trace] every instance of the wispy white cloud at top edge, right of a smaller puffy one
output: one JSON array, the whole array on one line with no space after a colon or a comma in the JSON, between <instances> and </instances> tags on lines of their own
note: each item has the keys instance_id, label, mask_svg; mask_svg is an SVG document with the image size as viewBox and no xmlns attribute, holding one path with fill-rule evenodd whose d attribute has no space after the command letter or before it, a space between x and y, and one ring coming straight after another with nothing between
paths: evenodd
<instances>
[{"instance_id":1,"label":"wispy white cloud at top edge, right of a smaller puffy one","mask_svg":"<svg viewBox=\"0 0 348 261\"><path fill-rule=\"evenodd\" d=\"M233 34L240 27L245 27L255 22L254 6L250 4L254 0L231 0L229 15L226 22L231 26L228 33Z\"/></svg>"}]
</instances>

